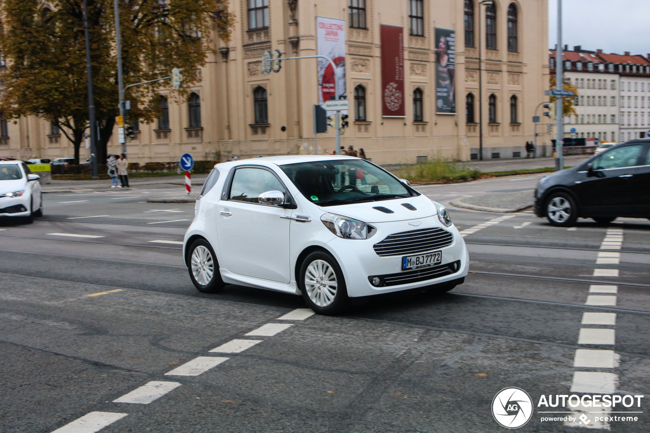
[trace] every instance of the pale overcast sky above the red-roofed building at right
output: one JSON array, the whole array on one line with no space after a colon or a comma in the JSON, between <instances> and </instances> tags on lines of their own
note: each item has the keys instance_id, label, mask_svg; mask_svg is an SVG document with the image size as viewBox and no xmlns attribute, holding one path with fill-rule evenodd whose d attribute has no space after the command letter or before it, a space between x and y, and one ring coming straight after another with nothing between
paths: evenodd
<instances>
[{"instance_id":1,"label":"pale overcast sky above the red-roofed building at right","mask_svg":"<svg viewBox=\"0 0 650 433\"><path fill-rule=\"evenodd\" d=\"M562 0L562 45L604 53L650 53L650 1ZM549 0L549 47L558 40L558 0Z\"/></svg>"}]
</instances>

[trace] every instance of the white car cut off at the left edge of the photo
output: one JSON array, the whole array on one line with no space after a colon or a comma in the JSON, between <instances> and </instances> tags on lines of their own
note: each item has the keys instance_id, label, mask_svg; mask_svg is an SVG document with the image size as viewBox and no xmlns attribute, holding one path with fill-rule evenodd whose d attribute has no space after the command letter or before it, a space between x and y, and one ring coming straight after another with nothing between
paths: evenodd
<instances>
[{"instance_id":1,"label":"white car cut off at the left edge of the photo","mask_svg":"<svg viewBox=\"0 0 650 433\"><path fill-rule=\"evenodd\" d=\"M23 161L0 161L0 218L23 217L32 222L43 215L40 177Z\"/></svg>"}]
</instances>

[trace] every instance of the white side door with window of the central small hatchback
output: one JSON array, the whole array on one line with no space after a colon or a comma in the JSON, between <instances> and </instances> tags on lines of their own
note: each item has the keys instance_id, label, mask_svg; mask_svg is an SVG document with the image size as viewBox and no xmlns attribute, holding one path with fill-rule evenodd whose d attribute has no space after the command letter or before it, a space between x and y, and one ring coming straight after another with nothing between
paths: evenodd
<instances>
[{"instance_id":1,"label":"white side door with window of the central small hatchback","mask_svg":"<svg viewBox=\"0 0 650 433\"><path fill-rule=\"evenodd\" d=\"M260 204L259 194L287 189L272 170L262 166L235 168L217 203L216 232L221 267L235 274L289 283L289 219L291 209Z\"/></svg>"}]
</instances>

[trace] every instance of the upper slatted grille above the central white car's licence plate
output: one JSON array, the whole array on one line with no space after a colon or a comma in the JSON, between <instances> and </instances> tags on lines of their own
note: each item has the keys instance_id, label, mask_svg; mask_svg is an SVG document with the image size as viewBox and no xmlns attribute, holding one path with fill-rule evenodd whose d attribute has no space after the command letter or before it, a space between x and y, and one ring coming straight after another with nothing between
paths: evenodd
<instances>
[{"instance_id":1,"label":"upper slatted grille above the central white car's licence plate","mask_svg":"<svg viewBox=\"0 0 650 433\"><path fill-rule=\"evenodd\" d=\"M403 231L374 244L378 256L406 256L449 246L454 236L441 228Z\"/></svg>"}]
</instances>

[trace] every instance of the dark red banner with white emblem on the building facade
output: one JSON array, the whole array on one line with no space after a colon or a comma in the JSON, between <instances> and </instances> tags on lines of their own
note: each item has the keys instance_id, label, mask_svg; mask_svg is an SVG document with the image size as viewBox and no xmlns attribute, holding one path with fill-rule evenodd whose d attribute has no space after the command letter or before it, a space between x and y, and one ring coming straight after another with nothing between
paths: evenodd
<instances>
[{"instance_id":1,"label":"dark red banner with white emblem on the building facade","mask_svg":"<svg viewBox=\"0 0 650 433\"><path fill-rule=\"evenodd\" d=\"M404 117L404 27L382 24L382 116Z\"/></svg>"}]
</instances>

